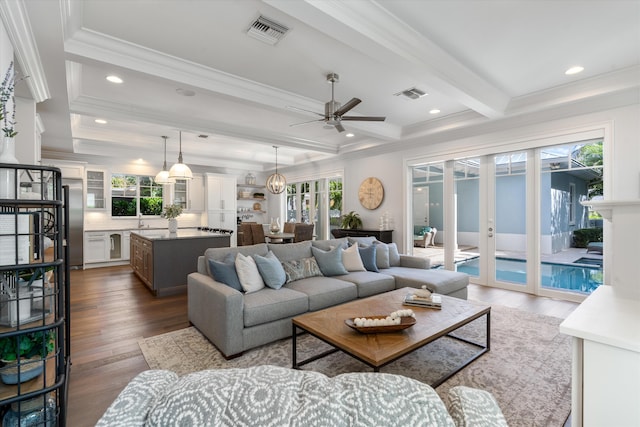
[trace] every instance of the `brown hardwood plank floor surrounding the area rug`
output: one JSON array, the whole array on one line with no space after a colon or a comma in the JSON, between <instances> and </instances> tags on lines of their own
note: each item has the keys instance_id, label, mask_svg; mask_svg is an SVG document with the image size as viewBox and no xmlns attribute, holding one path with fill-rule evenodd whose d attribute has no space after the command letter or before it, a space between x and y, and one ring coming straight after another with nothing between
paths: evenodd
<instances>
[{"instance_id":1,"label":"brown hardwood plank floor surrounding the area rug","mask_svg":"<svg viewBox=\"0 0 640 427\"><path fill-rule=\"evenodd\" d=\"M578 304L469 286L469 299L565 318ZM148 369L138 339L186 328L186 294L154 297L129 266L71 272L67 425L93 426L125 385Z\"/></svg>"}]
</instances>

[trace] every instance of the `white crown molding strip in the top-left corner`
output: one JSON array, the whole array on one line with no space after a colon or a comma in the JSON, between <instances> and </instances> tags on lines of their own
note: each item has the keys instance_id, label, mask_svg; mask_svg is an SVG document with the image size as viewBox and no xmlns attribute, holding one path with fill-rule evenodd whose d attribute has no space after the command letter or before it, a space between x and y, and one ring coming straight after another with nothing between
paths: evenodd
<instances>
[{"instance_id":1,"label":"white crown molding strip in the top-left corner","mask_svg":"<svg viewBox=\"0 0 640 427\"><path fill-rule=\"evenodd\" d=\"M0 19L11 40L14 55L25 76L25 83L36 103L51 98L47 78L40 60L40 53L33 37L31 23L23 0L0 2Z\"/></svg>"}]
</instances>

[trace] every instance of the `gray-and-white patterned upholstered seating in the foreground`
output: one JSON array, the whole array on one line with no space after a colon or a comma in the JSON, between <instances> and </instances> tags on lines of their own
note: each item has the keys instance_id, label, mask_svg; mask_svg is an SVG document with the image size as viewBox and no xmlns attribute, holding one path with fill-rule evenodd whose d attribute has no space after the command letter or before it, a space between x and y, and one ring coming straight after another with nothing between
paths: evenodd
<instances>
[{"instance_id":1,"label":"gray-and-white patterned upholstered seating in the foreground","mask_svg":"<svg viewBox=\"0 0 640 427\"><path fill-rule=\"evenodd\" d=\"M489 392L457 386L449 402L447 411L433 388L393 374L152 370L131 380L96 426L507 426Z\"/></svg>"}]
</instances>

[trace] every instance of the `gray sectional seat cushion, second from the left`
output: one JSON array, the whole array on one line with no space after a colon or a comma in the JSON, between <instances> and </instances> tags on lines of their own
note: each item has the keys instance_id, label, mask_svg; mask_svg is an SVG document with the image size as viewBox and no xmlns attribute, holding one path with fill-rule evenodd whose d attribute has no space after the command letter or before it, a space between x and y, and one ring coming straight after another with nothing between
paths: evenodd
<instances>
[{"instance_id":1,"label":"gray sectional seat cushion, second from the left","mask_svg":"<svg viewBox=\"0 0 640 427\"><path fill-rule=\"evenodd\" d=\"M311 277L287 283L284 288L302 292L309 297L309 310L316 311L358 297L356 285L335 277Z\"/></svg>"}]
</instances>

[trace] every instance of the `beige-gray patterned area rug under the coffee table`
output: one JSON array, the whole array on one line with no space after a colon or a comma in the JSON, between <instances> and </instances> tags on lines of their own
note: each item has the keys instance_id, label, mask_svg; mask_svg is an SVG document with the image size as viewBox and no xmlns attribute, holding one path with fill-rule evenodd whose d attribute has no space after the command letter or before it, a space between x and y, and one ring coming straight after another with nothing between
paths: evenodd
<instances>
[{"instance_id":1,"label":"beige-gray patterned area rug under the coffee table","mask_svg":"<svg viewBox=\"0 0 640 427\"><path fill-rule=\"evenodd\" d=\"M562 319L492 306L491 351L437 388L448 404L448 390L456 385L491 392L510 426L561 427L571 408L571 342L558 331ZM483 342L484 318L456 334ZM197 329L139 340L151 369L186 374L202 369L240 368L255 365L291 367L291 339L280 340L225 360ZM318 354L328 345L305 334L298 339L299 360ZM401 374L427 384L459 365L476 348L458 340L442 338L397 360L381 372ZM337 352L304 366L334 376L345 372L371 371L352 357Z\"/></svg>"}]
</instances>

